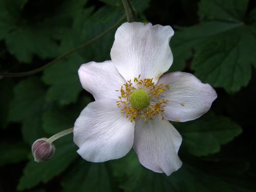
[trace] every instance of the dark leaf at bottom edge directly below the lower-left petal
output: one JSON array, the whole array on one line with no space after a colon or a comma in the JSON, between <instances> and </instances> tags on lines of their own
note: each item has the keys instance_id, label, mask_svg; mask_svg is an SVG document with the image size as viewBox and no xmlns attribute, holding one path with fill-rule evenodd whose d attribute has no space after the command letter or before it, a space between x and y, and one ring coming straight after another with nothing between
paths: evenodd
<instances>
[{"instance_id":1,"label":"dark leaf at bottom edge directly below the lower-left petal","mask_svg":"<svg viewBox=\"0 0 256 192\"><path fill-rule=\"evenodd\" d=\"M112 191L106 163L89 163L85 160L74 167L61 182L65 192Z\"/></svg>"}]
</instances>

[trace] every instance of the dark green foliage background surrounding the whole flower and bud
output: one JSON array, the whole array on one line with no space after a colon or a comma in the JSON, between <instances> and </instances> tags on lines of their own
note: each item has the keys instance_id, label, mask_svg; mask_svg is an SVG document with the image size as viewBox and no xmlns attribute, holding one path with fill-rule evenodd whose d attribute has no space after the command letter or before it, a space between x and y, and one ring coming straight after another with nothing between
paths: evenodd
<instances>
[{"instance_id":1,"label":"dark green foliage background surrounding the whole flower and bud","mask_svg":"<svg viewBox=\"0 0 256 192\"><path fill-rule=\"evenodd\" d=\"M34 162L31 144L73 127L93 101L82 89L77 70L82 63L111 59L114 34L122 22L42 72L22 78L1 74L44 66L108 30L124 10L121 0L0 0L0 191L256 190L255 2L131 2L137 21L174 28L170 71L194 73L218 93L206 115L173 123L183 138L182 167L169 177L154 173L139 163L133 150L118 160L90 163L76 153L72 134L54 142L56 154L50 161Z\"/></svg>"}]
</instances>

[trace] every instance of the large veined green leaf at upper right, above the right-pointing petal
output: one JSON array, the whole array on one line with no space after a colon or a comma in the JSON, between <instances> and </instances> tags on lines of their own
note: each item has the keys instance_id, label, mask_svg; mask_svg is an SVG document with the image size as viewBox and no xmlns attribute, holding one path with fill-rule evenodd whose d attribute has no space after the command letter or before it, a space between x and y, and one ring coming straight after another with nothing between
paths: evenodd
<instances>
[{"instance_id":1,"label":"large veined green leaf at upper right, above the right-pointing petal","mask_svg":"<svg viewBox=\"0 0 256 192\"><path fill-rule=\"evenodd\" d=\"M251 56L256 48L256 28L241 27L208 39L198 47L192 63L195 75L214 87L236 92L247 86L251 78ZM251 30L251 32L250 32Z\"/></svg>"}]
</instances>

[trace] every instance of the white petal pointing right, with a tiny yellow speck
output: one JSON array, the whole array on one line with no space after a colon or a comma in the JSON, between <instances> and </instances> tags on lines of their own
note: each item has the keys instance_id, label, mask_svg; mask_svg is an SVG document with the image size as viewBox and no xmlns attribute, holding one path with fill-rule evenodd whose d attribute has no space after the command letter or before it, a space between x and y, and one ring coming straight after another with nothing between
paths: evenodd
<instances>
[{"instance_id":1,"label":"white petal pointing right, with a tiny yellow speck","mask_svg":"<svg viewBox=\"0 0 256 192\"><path fill-rule=\"evenodd\" d=\"M163 115L171 121L189 121L205 114L217 98L209 84L202 83L190 73L168 73L158 83L169 84L162 98L169 100Z\"/></svg>"}]
</instances>

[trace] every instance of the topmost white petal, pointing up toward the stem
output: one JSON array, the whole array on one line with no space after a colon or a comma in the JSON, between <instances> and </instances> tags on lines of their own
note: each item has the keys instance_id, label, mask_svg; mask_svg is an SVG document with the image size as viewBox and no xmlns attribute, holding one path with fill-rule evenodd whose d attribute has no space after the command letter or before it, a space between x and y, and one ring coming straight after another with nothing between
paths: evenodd
<instances>
[{"instance_id":1,"label":"topmost white petal, pointing up toward the stem","mask_svg":"<svg viewBox=\"0 0 256 192\"><path fill-rule=\"evenodd\" d=\"M174 35L170 26L151 23L124 23L116 31L111 59L125 80L159 77L173 63L169 40Z\"/></svg>"}]
</instances>

